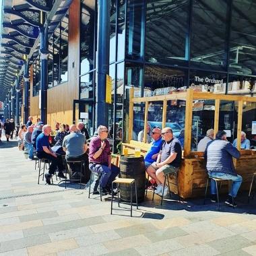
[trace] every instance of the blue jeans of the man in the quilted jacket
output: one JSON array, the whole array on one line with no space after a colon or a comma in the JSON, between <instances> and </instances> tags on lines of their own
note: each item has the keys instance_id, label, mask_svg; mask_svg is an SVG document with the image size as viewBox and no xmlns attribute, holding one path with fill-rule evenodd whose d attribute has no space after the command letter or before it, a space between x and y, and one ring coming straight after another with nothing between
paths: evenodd
<instances>
[{"instance_id":1,"label":"blue jeans of the man in the quilted jacket","mask_svg":"<svg viewBox=\"0 0 256 256\"><path fill-rule=\"evenodd\" d=\"M210 177L217 178L217 179L228 179L232 181L232 187L228 193L228 195L232 197L236 197L238 189L240 188L243 178L241 175L232 175L227 173L221 173L221 172L208 172ZM216 182L214 180L211 180L211 194L216 195Z\"/></svg>"}]
</instances>

